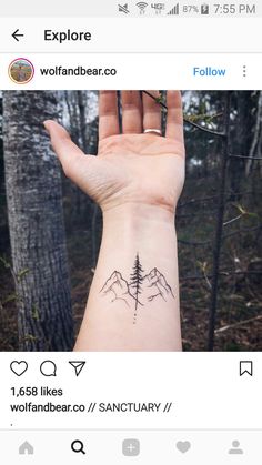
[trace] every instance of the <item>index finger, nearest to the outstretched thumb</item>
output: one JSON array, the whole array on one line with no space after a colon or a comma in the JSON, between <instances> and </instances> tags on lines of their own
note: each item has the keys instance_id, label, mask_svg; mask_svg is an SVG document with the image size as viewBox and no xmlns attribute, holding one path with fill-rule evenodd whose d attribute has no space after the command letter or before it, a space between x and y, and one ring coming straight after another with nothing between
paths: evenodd
<instances>
[{"instance_id":1,"label":"index finger, nearest to the outstretched thumb","mask_svg":"<svg viewBox=\"0 0 262 465\"><path fill-rule=\"evenodd\" d=\"M99 139L119 134L118 98L115 91L99 93Z\"/></svg>"}]
</instances>

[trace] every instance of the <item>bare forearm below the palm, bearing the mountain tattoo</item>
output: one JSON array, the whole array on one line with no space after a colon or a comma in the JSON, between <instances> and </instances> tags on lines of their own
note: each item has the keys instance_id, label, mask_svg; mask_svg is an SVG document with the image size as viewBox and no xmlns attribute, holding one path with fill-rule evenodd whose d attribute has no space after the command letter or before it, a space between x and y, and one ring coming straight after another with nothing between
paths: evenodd
<instances>
[{"instance_id":1,"label":"bare forearm below the palm, bearing the mountain tattoo","mask_svg":"<svg viewBox=\"0 0 262 465\"><path fill-rule=\"evenodd\" d=\"M103 237L77 351L181 350L173 213L122 205Z\"/></svg>"}]
</instances>

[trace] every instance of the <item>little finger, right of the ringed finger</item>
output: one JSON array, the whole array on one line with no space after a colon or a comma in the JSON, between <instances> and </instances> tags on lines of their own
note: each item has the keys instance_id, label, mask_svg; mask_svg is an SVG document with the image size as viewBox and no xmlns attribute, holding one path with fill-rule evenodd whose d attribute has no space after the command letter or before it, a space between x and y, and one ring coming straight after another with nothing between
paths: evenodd
<instances>
[{"instance_id":1,"label":"little finger, right of the ringed finger","mask_svg":"<svg viewBox=\"0 0 262 465\"><path fill-rule=\"evenodd\" d=\"M170 90L167 95L168 118L165 137L183 142L183 110L181 92Z\"/></svg>"}]
</instances>

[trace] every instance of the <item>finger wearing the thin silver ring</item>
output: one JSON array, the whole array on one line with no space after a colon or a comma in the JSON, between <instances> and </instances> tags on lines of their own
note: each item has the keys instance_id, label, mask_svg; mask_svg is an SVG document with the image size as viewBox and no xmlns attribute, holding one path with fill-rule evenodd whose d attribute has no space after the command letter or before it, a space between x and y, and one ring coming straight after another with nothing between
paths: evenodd
<instances>
[{"instance_id":1,"label":"finger wearing the thin silver ring","mask_svg":"<svg viewBox=\"0 0 262 465\"><path fill-rule=\"evenodd\" d=\"M160 97L159 91L148 91L150 95L143 92L143 130L155 129L161 131L161 107L155 101Z\"/></svg>"}]
</instances>

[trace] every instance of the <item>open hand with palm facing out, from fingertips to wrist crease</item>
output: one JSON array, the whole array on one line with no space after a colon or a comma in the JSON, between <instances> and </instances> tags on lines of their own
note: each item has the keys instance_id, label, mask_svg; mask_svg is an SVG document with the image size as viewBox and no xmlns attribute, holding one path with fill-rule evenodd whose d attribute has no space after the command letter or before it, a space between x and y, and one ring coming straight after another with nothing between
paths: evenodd
<instances>
[{"instance_id":1,"label":"open hand with palm facing out, from fingertips to wrist crease","mask_svg":"<svg viewBox=\"0 0 262 465\"><path fill-rule=\"evenodd\" d=\"M154 97L159 92L152 91ZM54 121L46 121L63 171L103 211L129 204L174 212L184 182L183 114L179 91L168 91L165 137L161 107L139 91L122 91L122 133L115 91L101 91L98 156L85 155Z\"/></svg>"}]
</instances>

